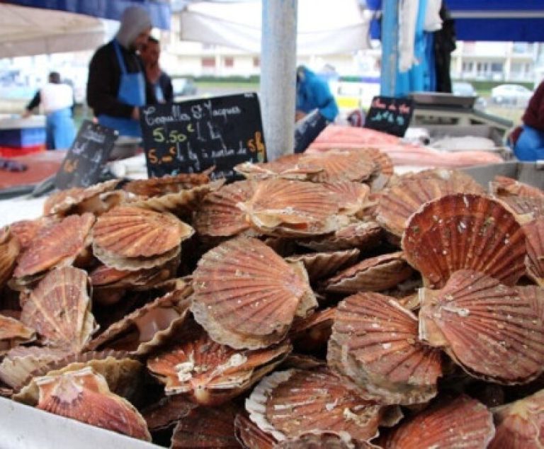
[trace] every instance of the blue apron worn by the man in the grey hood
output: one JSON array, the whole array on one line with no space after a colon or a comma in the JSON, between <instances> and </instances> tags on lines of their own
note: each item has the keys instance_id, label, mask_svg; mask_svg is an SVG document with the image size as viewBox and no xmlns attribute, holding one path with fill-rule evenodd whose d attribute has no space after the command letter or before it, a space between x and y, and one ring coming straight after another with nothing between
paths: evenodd
<instances>
[{"instance_id":1,"label":"blue apron worn by the man in the grey hood","mask_svg":"<svg viewBox=\"0 0 544 449\"><path fill-rule=\"evenodd\" d=\"M117 55L117 60L121 69L121 79L117 94L118 100L130 106L144 106L145 78L143 72L128 73L117 40L113 40L113 48L115 49L115 54ZM122 136L142 137L140 123L131 118L112 117L111 115L101 114L98 115L98 123L118 130L119 135Z\"/></svg>"}]
</instances>

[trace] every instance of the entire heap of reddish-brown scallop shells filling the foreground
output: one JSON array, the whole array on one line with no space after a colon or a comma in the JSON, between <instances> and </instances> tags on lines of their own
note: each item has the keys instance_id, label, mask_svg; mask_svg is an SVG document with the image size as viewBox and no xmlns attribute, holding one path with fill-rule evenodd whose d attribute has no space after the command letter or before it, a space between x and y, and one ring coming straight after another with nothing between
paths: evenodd
<instances>
[{"instance_id":1,"label":"entire heap of reddish-brown scallop shells filling the foreground","mask_svg":"<svg viewBox=\"0 0 544 449\"><path fill-rule=\"evenodd\" d=\"M0 393L171 448L540 448L544 192L375 149L0 230Z\"/></svg>"}]
</instances>

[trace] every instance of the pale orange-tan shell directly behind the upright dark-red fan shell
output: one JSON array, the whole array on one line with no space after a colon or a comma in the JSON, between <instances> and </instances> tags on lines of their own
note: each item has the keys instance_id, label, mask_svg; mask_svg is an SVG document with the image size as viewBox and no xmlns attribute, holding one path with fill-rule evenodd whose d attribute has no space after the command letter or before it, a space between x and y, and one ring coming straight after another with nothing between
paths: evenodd
<instances>
[{"instance_id":1,"label":"pale orange-tan shell directly behind the upright dark-red fan shell","mask_svg":"<svg viewBox=\"0 0 544 449\"><path fill-rule=\"evenodd\" d=\"M392 234L402 236L407 220L424 203L451 193L485 194L480 184L459 171L436 171L436 177L427 176L432 175L402 178L380 195L376 219Z\"/></svg>"}]
</instances>

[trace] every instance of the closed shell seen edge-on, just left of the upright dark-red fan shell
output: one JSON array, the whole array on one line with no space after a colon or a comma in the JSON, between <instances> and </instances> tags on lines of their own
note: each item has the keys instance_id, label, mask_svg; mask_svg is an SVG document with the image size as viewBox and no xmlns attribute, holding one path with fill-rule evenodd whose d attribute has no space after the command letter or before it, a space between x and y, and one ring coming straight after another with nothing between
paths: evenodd
<instances>
[{"instance_id":1,"label":"closed shell seen edge-on, just left of the upright dark-red fan shell","mask_svg":"<svg viewBox=\"0 0 544 449\"><path fill-rule=\"evenodd\" d=\"M329 292L379 292L407 280L414 271L402 251L367 258L326 281Z\"/></svg>"}]
</instances>

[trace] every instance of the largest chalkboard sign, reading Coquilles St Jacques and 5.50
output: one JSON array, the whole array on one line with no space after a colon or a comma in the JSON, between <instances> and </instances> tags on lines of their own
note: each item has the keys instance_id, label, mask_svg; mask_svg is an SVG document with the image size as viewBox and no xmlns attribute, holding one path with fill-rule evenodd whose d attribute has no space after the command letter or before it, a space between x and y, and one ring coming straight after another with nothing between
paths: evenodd
<instances>
[{"instance_id":1,"label":"largest chalkboard sign, reading Coquilles St Jacques and 5.50","mask_svg":"<svg viewBox=\"0 0 544 449\"><path fill-rule=\"evenodd\" d=\"M245 161L266 161L261 108L256 93L200 98L140 109L147 174L198 173L240 178Z\"/></svg>"}]
</instances>

